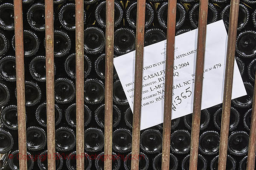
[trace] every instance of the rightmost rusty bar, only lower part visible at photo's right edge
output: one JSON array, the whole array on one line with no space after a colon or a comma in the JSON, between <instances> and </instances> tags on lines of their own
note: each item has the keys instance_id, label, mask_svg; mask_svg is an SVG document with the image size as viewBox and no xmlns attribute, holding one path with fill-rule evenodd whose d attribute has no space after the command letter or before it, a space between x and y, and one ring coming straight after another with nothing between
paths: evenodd
<instances>
[{"instance_id":1,"label":"rightmost rusty bar, only lower part visible at photo's right edge","mask_svg":"<svg viewBox=\"0 0 256 170\"><path fill-rule=\"evenodd\" d=\"M255 154L256 154L256 81L254 82L253 93L253 110L250 125L249 148L247 157L247 170L254 170L255 168Z\"/></svg>"}]
</instances>

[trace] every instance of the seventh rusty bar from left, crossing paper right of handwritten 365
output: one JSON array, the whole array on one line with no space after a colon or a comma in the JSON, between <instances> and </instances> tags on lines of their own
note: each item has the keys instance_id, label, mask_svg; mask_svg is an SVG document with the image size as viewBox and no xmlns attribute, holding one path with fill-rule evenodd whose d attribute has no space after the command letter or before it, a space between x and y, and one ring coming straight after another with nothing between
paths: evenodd
<instances>
[{"instance_id":1,"label":"seventh rusty bar from left, crossing paper right of handwritten 365","mask_svg":"<svg viewBox=\"0 0 256 170\"><path fill-rule=\"evenodd\" d=\"M195 68L195 88L193 102L193 117L191 131L191 150L189 160L189 170L197 170L198 164L198 143L201 118L201 101L204 76L204 52L206 40L208 0L201 0L199 5L198 19L198 40L197 40L197 55Z\"/></svg>"}]
</instances>

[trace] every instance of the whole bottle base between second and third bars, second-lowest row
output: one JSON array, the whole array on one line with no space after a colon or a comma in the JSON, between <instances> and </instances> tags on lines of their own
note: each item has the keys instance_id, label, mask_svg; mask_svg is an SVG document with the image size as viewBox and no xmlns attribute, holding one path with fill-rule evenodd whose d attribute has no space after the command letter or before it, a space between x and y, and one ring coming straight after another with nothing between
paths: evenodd
<instances>
[{"instance_id":1,"label":"whole bottle base between second and third bars, second-lowest row","mask_svg":"<svg viewBox=\"0 0 256 170\"><path fill-rule=\"evenodd\" d=\"M55 131L55 148L61 152L73 150L76 146L76 135L68 127L60 127Z\"/></svg>"}]
</instances>

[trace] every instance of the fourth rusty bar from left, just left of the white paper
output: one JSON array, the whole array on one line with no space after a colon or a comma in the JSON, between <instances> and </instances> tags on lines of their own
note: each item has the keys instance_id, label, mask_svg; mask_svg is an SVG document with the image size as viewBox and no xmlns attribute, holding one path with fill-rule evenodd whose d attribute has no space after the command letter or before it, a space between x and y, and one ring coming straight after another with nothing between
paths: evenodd
<instances>
[{"instance_id":1,"label":"fourth rusty bar from left, just left of the white paper","mask_svg":"<svg viewBox=\"0 0 256 170\"><path fill-rule=\"evenodd\" d=\"M114 0L106 0L106 58L105 58L105 157L112 155L113 125L113 48ZM104 169L112 169L112 159L104 161Z\"/></svg>"}]
</instances>

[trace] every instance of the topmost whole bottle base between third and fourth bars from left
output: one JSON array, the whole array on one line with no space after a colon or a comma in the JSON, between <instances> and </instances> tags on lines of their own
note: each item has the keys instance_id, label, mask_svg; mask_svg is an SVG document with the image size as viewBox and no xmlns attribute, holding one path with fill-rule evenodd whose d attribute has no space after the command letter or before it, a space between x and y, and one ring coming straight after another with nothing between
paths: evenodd
<instances>
[{"instance_id":1,"label":"topmost whole bottle base between third and fourth bars from left","mask_svg":"<svg viewBox=\"0 0 256 170\"><path fill-rule=\"evenodd\" d=\"M105 48L105 34L98 27L87 27L84 30L84 52L100 54Z\"/></svg>"}]
</instances>

